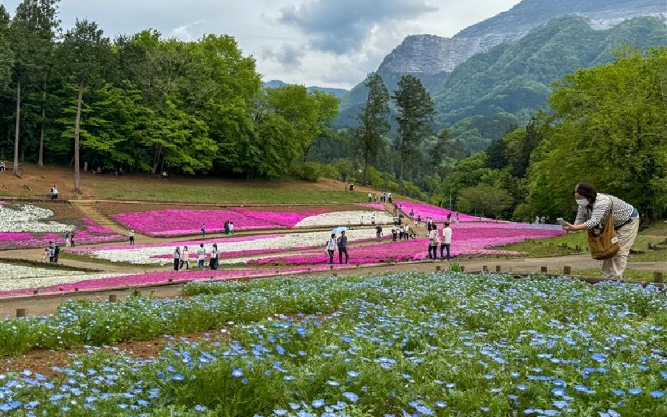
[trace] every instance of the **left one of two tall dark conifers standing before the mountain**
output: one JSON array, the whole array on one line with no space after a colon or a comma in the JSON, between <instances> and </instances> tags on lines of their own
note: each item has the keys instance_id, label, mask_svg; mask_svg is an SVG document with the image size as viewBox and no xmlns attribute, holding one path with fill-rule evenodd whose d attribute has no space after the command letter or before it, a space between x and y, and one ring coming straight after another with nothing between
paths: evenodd
<instances>
[{"instance_id":1,"label":"left one of two tall dark conifers standing before the mountain","mask_svg":"<svg viewBox=\"0 0 667 417\"><path fill-rule=\"evenodd\" d=\"M367 183L368 164L377 157L382 146L382 137L390 129L387 118L390 115L389 91L377 72L371 72L364 81L368 89L368 98L363 112L359 116L361 126L356 141L363 158L363 183Z\"/></svg>"}]
</instances>

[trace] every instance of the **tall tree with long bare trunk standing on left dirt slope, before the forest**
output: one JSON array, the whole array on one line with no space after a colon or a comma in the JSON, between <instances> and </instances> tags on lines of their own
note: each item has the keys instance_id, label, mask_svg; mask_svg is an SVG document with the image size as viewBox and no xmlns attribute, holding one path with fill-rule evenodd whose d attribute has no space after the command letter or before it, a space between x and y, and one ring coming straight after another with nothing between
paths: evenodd
<instances>
[{"instance_id":1,"label":"tall tree with long bare trunk standing on left dirt slope, before the forest","mask_svg":"<svg viewBox=\"0 0 667 417\"><path fill-rule=\"evenodd\" d=\"M67 74L78 87L76 98L76 117L74 119L74 193L81 193L81 174L79 172L79 139L81 134L81 106L83 90L87 85L99 82L104 65L110 58L108 38L95 22L76 20L74 28L65 33L60 45L61 62L69 63Z\"/></svg>"}]
</instances>

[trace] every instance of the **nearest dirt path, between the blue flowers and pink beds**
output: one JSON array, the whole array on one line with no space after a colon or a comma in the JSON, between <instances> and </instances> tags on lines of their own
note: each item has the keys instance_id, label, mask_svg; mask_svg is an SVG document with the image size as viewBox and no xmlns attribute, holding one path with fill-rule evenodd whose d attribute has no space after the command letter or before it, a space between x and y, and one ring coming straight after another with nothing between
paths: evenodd
<instances>
[{"instance_id":1,"label":"nearest dirt path, between the blue flowers and pink beds","mask_svg":"<svg viewBox=\"0 0 667 417\"><path fill-rule=\"evenodd\" d=\"M470 272L482 270L487 266L489 270L495 271L497 265L502 271L527 274L540 272L541 267L546 266L547 272L557 275L563 272L564 266L570 266L573 270L600 268L600 261L591 259L588 254L554 256L549 258L522 258L522 259L459 259L459 263ZM432 272L440 266L447 269L447 263L440 261L424 261L411 263L397 263L395 265L364 265L359 268L348 268L336 270L339 276L364 275L368 273L384 272ZM628 263L627 268L638 270L667 270L664 263L660 262L634 262ZM327 276L331 271L308 272L308 275ZM182 284L154 286L142 288L140 291L145 295L153 297L175 297L179 294ZM0 317L14 316L16 309L26 309L28 316L44 316L52 314L65 300L108 300L109 295L116 295L119 300L127 297L128 290L94 291L86 293L68 293L67 295L37 296L19 299L0 300Z\"/></svg>"}]
</instances>

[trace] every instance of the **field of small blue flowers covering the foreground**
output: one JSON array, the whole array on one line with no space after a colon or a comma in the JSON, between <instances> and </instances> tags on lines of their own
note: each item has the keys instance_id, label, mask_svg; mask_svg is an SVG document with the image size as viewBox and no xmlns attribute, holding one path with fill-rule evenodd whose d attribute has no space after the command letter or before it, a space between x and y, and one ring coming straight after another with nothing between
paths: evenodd
<instances>
[{"instance_id":1,"label":"field of small blue flowers covering the foreground","mask_svg":"<svg viewBox=\"0 0 667 417\"><path fill-rule=\"evenodd\" d=\"M185 293L3 321L0 348L229 327L155 359L88 347L56 379L0 375L0 415L667 416L667 302L650 286L404 273Z\"/></svg>"}]
</instances>

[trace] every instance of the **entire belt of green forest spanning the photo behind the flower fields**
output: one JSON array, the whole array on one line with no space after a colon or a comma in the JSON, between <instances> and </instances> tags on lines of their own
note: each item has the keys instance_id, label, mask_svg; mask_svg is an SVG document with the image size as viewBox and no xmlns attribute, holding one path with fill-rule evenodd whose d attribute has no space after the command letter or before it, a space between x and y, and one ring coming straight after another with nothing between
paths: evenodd
<instances>
[{"instance_id":1,"label":"entire belt of green forest spanning the photo behind the flower fields","mask_svg":"<svg viewBox=\"0 0 667 417\"><path fill-rule=\"evenodd\" d=\"M110 40L86 20L61 28L57 0L24 0L11 17L0 6L0 158L75 172L331 177L515 220L572 211L575 183L588 181L663 217L667 48L621 47L606 61L573 61L545 90L549 108L526 111L524 126L473 116L485 117L475 129L505 132L473 154L460 122L437 123L442 109L414 76L390 91L369 74L358 126L336 129L336 95L263 88L254 58L229 35L184 42L146 30ZM470 91L484 90L479 74Z\"/></svg>"}]
</instances>

